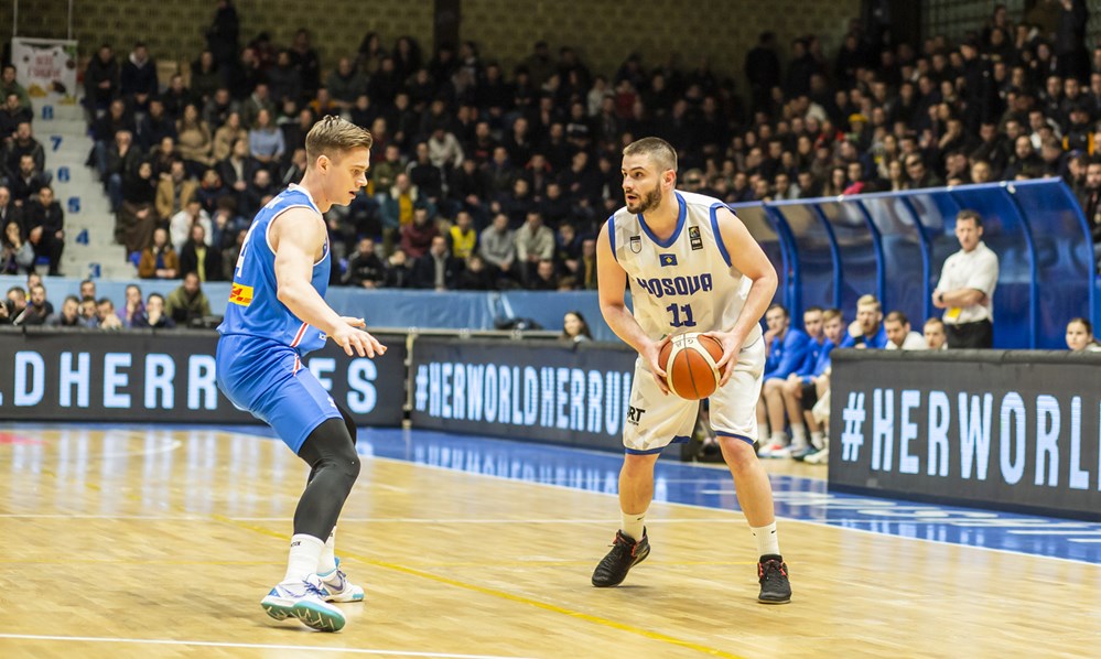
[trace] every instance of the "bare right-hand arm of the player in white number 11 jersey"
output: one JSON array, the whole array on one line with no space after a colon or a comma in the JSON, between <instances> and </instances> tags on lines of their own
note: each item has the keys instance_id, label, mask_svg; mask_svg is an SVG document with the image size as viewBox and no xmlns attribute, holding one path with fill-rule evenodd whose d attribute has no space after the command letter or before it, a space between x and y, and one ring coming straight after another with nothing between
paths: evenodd
<instances>
[{"instance_id":1,"label":"bare right-hand arm of the player in white number 11 jersey","mask_svg":"<svg viewBox=\"0 0 1101 659\"><path fill-rule=\"evenodd\" d=\"M731 257L731 267L748 277L753 284L746 296L742 313L738 314L734 326L726 332L709 332L708 334L719 339L723 344L723 356L716 363L723 374L719 386L722 387L734 374L736 359L732 358L742 350L745 337L749 335L753 326L760 323L760 316L773 301L776 293L776 270L768 261L764 250L757 241L749 235L742 220L728 208L720 208L717 212L719 233L723 245L726 246L726 253Z\"/></svg>"}]
</instances>

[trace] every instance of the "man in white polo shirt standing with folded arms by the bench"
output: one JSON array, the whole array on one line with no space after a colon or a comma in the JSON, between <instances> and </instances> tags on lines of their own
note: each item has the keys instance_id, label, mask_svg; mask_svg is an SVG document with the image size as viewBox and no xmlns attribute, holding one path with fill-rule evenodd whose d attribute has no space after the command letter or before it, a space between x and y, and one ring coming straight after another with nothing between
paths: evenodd
<instances>
[{"instance_id":1,"label":"man in white polo shirt standing with folded arms by the bench","mask_svg":"<svg viewBox=\"0 0 1101 659\"><path fill-rule=\"evenodd\" d=\"M994 347L994 289L997 287L997 255L982 241L982 216L960 210L956 237L960 251L948 257L932 304L943 309L948 345L952 348Z\"/></svg>"}]
</instances>

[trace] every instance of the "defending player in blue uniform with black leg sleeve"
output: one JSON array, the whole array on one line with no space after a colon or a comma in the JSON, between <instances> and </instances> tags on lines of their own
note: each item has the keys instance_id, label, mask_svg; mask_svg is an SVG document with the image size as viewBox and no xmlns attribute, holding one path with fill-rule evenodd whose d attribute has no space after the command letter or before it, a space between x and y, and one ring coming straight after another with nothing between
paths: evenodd
<instances>
[{"instance_id":1,"label":"defending player in blue uniform with black leg sleeve","mask_svg":"<svg viewBox=\"0 0 1101 659\"><path fill-rule=\"evenodd\" d=\"M295 617L325 631L344 627L331 602L359 602L334 555L336 519L359 475L356 425L302 357L332 338L349 356L386 348L325 303L332 259L322 213L346 206L367 184L371 137L338 117L306 136L302 182L276 195L249 227L218 327L218 388L239 408L274 429L310 465L294 511L287 574L261 601L277 620Z\"/></svg>"}]
</instances>

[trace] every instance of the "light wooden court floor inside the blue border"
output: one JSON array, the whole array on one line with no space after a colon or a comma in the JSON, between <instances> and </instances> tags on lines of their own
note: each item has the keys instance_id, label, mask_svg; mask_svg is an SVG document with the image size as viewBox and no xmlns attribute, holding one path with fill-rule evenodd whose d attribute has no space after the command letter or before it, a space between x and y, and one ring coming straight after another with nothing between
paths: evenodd
<instances>
[{"instance_id":1,"label":"light wooden court floor inside the blue border","mask_svg":"<svg viewBox=\"0 0 1101 659\"><path fill-rule=\"evenodd\" d=\"M614 496L365 457L339 634L274 623L306 471L217 429L0 424L0 657L1098 657L1101 566L780 521L794 602L756 602L733 511L656 504L589 584Z\"/></svg>"}]
</instances>

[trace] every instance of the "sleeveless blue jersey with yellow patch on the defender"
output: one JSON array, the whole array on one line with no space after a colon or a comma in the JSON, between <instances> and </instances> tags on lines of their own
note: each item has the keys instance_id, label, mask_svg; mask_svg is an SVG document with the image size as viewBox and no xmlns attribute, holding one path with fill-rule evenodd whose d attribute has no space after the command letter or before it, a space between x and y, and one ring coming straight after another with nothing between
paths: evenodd
<instances>
[{"instance_id":1,"label":"sleeveless blue jersey with yellow patch on the defender","mask_svg":"<svg viewBox=\"0 0 1101 659\"><path fill-rule=\"evenodd\" d=\"M268 229L284 210L300 207L310 208L321 216L310 193L291 185L256 214L237 259L226 316L218 326L224 336L242 334L268 338L294 348L299 355L325 345L324 332L303 323L276 296L276 253L268 241ZM331 263L326 238L321 260L313 264L310 278L311 285L323 298L328 289Z\"/></svg>"}]
</instances>

